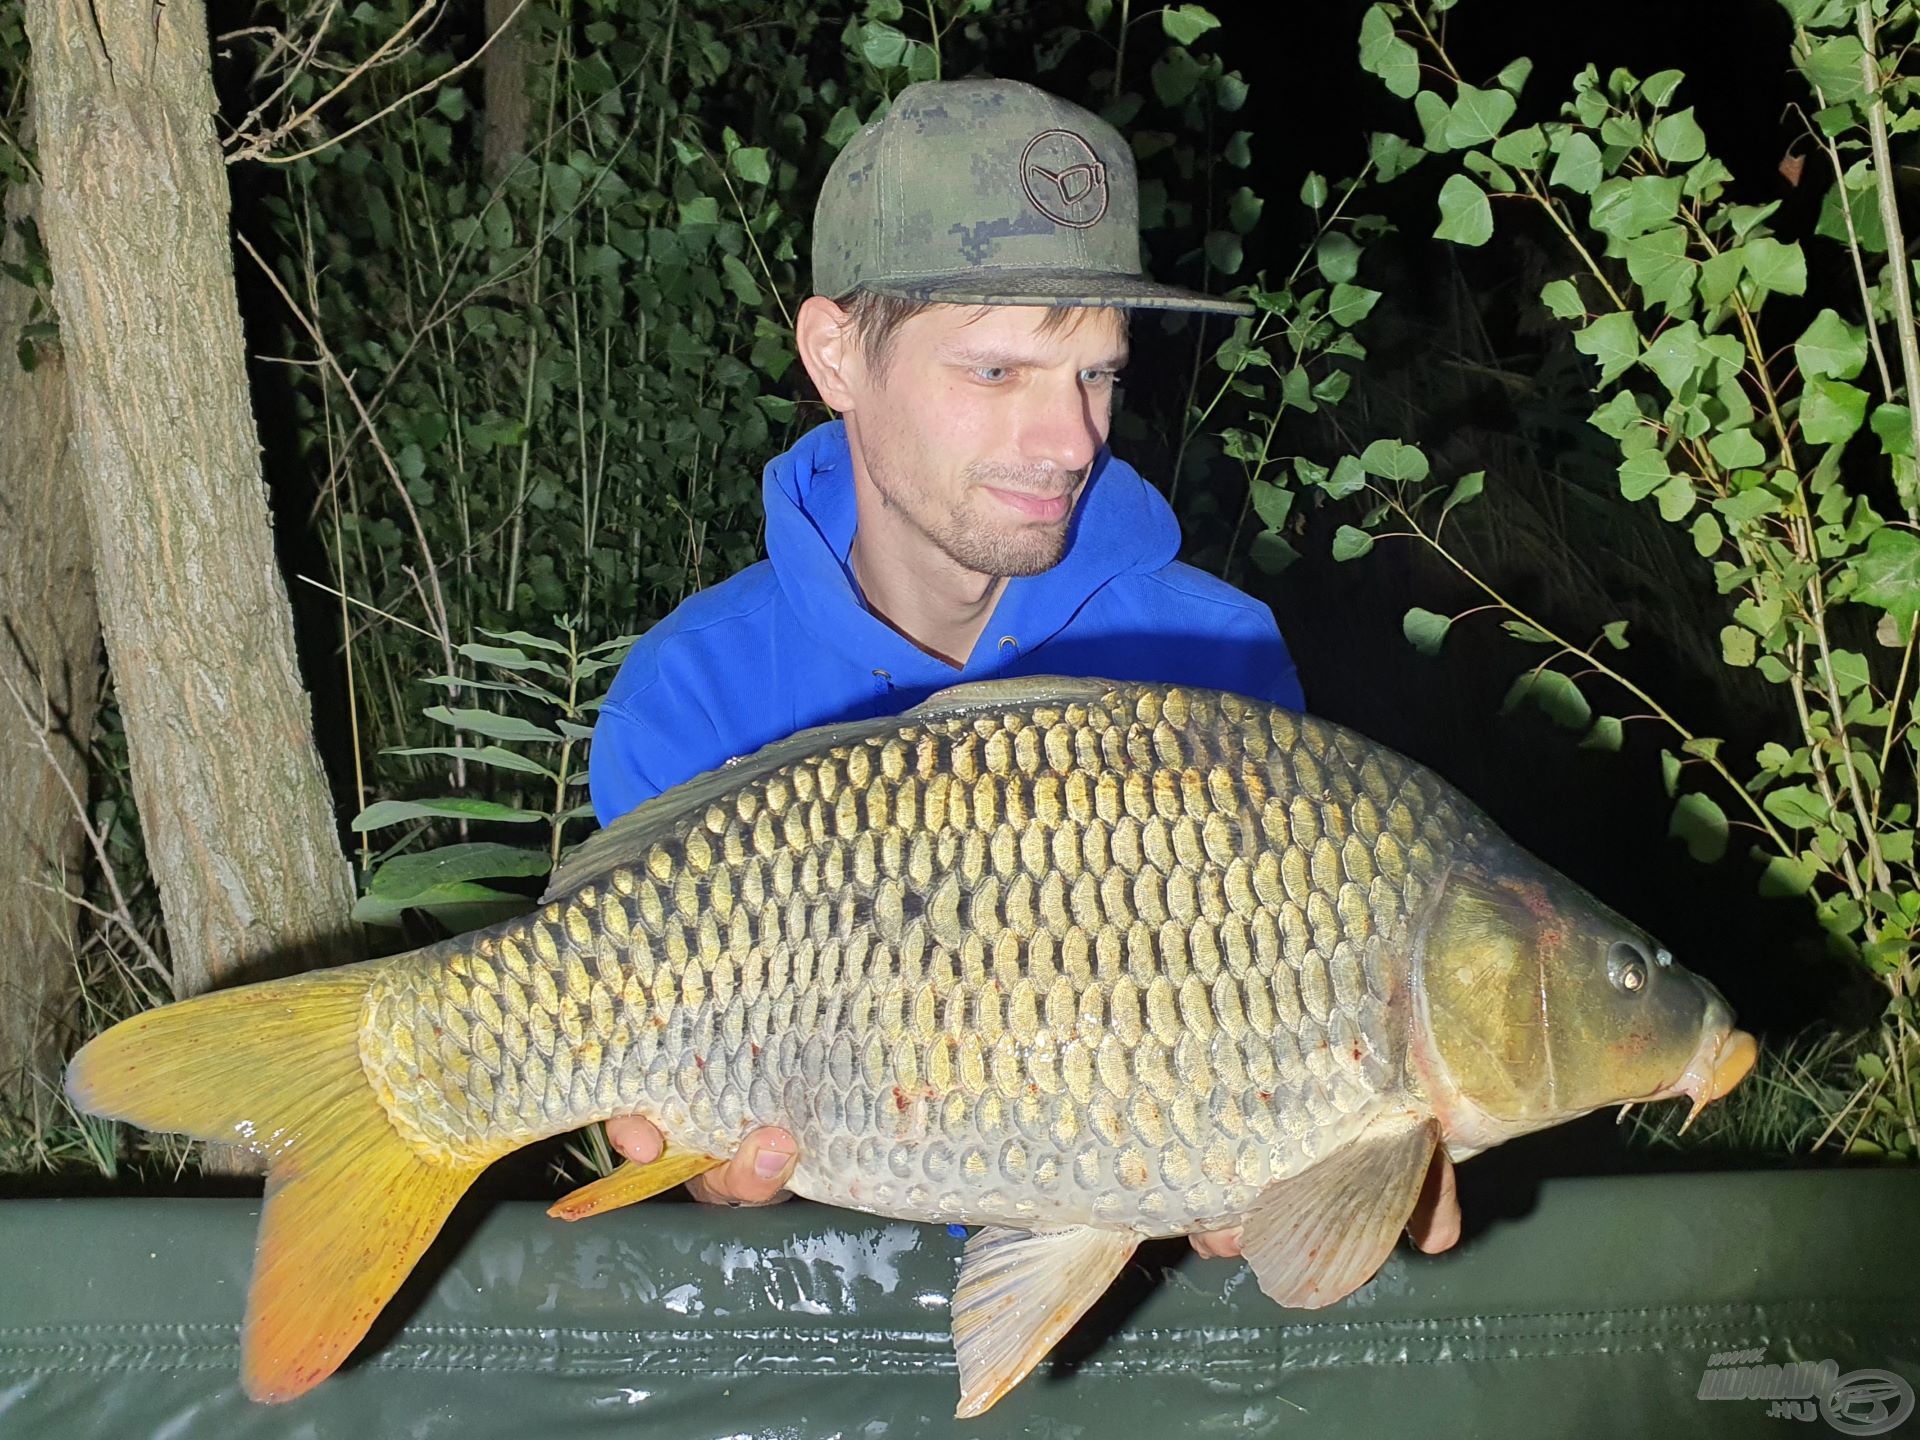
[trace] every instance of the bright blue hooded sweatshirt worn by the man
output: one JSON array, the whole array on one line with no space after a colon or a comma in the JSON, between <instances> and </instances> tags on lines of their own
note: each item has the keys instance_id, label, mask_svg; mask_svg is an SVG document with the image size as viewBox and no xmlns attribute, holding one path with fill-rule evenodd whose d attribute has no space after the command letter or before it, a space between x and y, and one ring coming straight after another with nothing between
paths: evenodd
<instances>
[{"instance_id":1,"label":"bright blue hooded sweatshirt worn by the man","mask_svg":"<svg viewBox=\"0 0 1920 1440\"><path fill-rule=\"evenodd\" d=\"M766 467L766 555L689 595L634 645L593 728L601 824L806 726L897 714L995 676L1098 676L1231 689L1300 708L1273 612L1177 563L1165 499L1110 453L1094 463L1060 563L1008 580L954 670L860 601L847 553L852 457L839 420Z\"/></svg>"}]
</instances>

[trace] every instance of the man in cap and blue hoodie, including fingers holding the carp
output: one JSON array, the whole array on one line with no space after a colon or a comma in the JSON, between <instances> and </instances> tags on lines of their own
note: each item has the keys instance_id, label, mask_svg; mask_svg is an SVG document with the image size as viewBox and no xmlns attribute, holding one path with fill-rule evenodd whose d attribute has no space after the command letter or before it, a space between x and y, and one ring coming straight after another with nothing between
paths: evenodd
<instances>
[{"instance_id":1,"label":"man in cap and blue hoodie, including fingers holding the carp","mask_svg":"<svg viewBox=\"0 0 1920 1440\"><path fill-rule=\"evenodd\" d=\"M1106 451L1127 309L1244 305L1139 273L1133 156L1029 84L912 84L835 159L795 340L839 415L766 468L768 559L634 647L593 732L601 822L804 726L966 680L1167 680L1300 708L1271 611L1179 564L1160 493ZM831 296L831 300L829 300ZM659 1131L609 1121L632 1160ZM781 1129L689 1183L766 1204ZM1428 1175L1425 1248L1457 1235ZM1194 1236L1235 1254L1236 1233Z\"/></svg>"}]
</instances>

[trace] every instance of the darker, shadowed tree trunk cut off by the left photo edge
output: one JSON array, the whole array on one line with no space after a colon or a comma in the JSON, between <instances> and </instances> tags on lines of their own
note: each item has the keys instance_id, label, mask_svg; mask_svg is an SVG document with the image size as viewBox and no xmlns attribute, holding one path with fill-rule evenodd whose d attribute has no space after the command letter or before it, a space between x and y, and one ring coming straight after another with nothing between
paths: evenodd
<instances>
[{"instance_id":1,"label":"darker, shadowed tree trunk cut off by the left photo edge","mask_svg":"<svg viewBox=\"0 0 1920 1440\"><path fill-rule=\"evenodd\" d=\"M21 144L33 144L31 113ZM33 179L8 192L0 261L25 259L13 227L36 205ZM67 371L52 344L35 348L33 371L15 359L35 305L35 290L0 275L0 1100L21 1106L44 1094L36 1079L60 1073L60 1031L77 995L79 916L61 891L79 885L84 835L73 797L86 797L100 701Z\"/></svg>"}]
</instances>

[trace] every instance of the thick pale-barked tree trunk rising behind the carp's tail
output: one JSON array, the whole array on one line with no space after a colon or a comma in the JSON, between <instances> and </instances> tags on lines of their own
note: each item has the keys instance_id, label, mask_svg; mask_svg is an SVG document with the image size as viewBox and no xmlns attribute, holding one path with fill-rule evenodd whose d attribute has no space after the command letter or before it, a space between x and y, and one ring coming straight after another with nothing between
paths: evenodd
<instances>
[{"instance_id":1,"label":"thick pale-barked tree trunk rising behind the carp's tail","mask_svg":"<svg viewBox=\"0 0 1920 1440\"><path fill-rule=\"evenodd\" d=\"M359 952L294 664L202 0L27 0L40 228L173 989Z\"/></svg>"}]
</instances>

